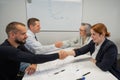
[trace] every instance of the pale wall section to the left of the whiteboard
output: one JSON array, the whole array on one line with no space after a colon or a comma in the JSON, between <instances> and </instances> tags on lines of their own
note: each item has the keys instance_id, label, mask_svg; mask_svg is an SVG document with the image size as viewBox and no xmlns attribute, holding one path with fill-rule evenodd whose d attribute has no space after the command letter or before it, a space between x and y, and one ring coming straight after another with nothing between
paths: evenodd
<instances>
[{"instance_id":1,"label":"pale wall section to the left of the whiteboard","mask_svg":"<svg viewBox=\"0 0 120 80\"><path fill-rule=\"evenodd\" d=\"M5 28L9 22L26 23L25 6L25 0L0 0L0 43L7 37Z\"/></svg>"}]
</instances>

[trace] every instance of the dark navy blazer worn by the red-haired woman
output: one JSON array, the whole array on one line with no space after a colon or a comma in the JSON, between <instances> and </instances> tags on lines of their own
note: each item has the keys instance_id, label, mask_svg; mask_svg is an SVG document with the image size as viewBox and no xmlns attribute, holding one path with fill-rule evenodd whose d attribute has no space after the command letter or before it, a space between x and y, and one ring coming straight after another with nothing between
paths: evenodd
<instances>
[{"instance_id":1,"label":"dark navy blazer worn by the red-haired woman","mask_svg":"<svg viewBox=\"0 0 120 80\"><path fill-rule=\"evenodd\" d=\"M74 49L74 51L76 56L86 54L87 52L90 52L92 55L95 51L95 43L91 40L89 44L82 48ZM117 68L117 55L118 50L116 45L112 41L105 39L97 53L96 65L103 71L111 72L120 80L120 70Z\"/></svg>"}]
</instances>

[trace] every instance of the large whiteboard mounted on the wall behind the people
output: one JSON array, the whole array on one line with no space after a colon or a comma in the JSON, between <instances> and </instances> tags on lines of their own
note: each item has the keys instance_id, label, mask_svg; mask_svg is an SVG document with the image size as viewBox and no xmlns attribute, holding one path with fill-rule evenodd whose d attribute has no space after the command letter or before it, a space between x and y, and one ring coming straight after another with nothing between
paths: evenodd
<instances>
[{"instance_id":1,"label":"large whiteboard mounted on the wall behind the people","mask_svg":"<svg viewBox=\"0 0 120 80\"><path fill-rule=\"evenodd\" d=\"M82 0L28 0L27 18L40 19L41 30L78 31Z\"/></svg>"}]
</instances>

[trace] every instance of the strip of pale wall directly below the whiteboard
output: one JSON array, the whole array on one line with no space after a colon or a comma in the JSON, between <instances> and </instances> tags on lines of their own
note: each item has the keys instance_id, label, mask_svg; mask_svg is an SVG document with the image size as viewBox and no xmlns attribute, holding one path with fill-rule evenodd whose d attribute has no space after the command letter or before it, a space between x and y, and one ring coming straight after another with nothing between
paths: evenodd
<instances>
[{"instance_id":1,"label":"strip of pale wall directly below the whiteboard","mask_svg":"<svg viewBox=\"0 0 120 80\"><path fill-rule=\"evenodd\" d=\"M43 44L51 44L56 41L68 40L79 36L79 32L40 32L37 34L39 41Z\"/></svg>"}]
</instances>

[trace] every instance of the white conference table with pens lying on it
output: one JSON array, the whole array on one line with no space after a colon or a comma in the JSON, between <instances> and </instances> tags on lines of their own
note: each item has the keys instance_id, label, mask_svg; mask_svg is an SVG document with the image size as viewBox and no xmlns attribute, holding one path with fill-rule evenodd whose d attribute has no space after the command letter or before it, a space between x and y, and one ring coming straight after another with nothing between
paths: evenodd
<instances>
[{"instance_id":1,"label":"white conference table with pens lying on it","mask_svg":"<svg viewBox=\"0 0 120 80\"><path fill-rule=\"evenodd\" d=\"M38 64L36 72L25 74L23 80L118 80L109 71L99 69L90 59L91 56L85 54Z\"/></svg>"}]
</instances>

